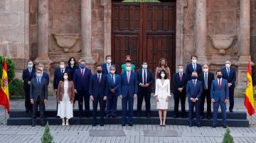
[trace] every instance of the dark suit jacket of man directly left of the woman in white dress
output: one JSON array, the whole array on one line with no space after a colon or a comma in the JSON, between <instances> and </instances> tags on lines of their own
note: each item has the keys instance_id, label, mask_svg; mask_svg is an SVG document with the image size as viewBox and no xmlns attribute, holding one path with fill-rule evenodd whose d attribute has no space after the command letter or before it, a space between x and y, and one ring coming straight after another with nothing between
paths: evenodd
<instances>
[{"instance_id":1,"label":"dark suit jacket of man directly left of the woman in white dress","mask_svg":"<svg viewBox=\"0 0 256 143\"><path fill-rule=\"evenodd\" d=\"M143 70L144 69L137 69L136 73L137 73L137 80L138 80L138 86L139 84L143 84L143 79L142 79L142 74L143 74ZM154 84L154 77L153 77L153 72L151 71L151 69L146 69L146 84L149 84L149 87L147 87L148 91L151 92L151 86L152 84ZM141 89L142 87L139 86L139 89Z\"/></svg>"}]
</instances>

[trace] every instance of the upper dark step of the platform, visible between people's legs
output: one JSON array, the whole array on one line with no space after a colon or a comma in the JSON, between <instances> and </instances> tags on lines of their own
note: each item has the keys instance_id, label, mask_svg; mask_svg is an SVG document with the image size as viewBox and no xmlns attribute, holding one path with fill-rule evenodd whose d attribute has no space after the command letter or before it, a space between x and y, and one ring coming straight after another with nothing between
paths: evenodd
<instances>
[{"instance_id":1,"label":"upper dark step of the platform, visible between people's legs","mask_svg":"<svg viewBox=\"0 0 256 143\"><path fill-rule=\"evenodd\" d=\"M99 112L98 112L99 113ZM57 115L56 110L49 109L46 110L46 116L48 117L55 117ZM73 112L74 117L78 117L78 110L74 110ZM90 111L90 115L92 115L92 111ZM146 112L142 111L142 117L145 117ZM167 112L168 117L173 117L174 111L169 110ZM188 115L188 111L186 111L186 115ZM39 116L39 112L38 112ZM117 110L117 116L122 116L122 110ZM31 115L29 113L26 113L25 110L21 109L13 109L10 112L9 118L30 118ZM137 117L137 110L134 110L134 117ZM151 110L151 117L159 117L158 110ZM179 117L181 117L181 112L179 113ZM205 113L206 117L206 113ZM218 113L218 118L221 119L221 113ZM246 120L247 119L247 113L245 112L234 112L234 113L229 113L227 112L227 119L242 119Z\"/></svg>"}]
</instances>

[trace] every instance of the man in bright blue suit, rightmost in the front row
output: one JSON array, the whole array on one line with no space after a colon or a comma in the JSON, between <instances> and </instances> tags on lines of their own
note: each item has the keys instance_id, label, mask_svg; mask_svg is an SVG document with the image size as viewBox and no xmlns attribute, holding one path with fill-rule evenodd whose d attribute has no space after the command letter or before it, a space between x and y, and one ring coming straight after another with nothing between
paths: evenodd
<instances>
[{"instance_id":1,"label":"man in bright blue suit, rightmost in the front row","mask_svg":"<svg viewBox=\"0 0 256 143\"><path fill-rule=\"evenodd\" d=\"M218 108L220 106L222 113L222 124L223 127L227 127L226 122L226 103L228 102L228 81L223 79L223 74L221 71L217 71L217 79L213 80L210 88L210 98L213 102L213 127L217 125Z\"/></svg>"}]
</instances>

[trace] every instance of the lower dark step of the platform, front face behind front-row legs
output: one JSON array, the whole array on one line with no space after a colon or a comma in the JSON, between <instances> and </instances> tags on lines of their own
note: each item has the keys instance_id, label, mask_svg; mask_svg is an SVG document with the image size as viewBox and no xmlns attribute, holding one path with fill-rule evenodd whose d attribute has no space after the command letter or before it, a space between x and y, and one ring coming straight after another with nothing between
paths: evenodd
<instances>
[{"instance_id":1,"label":"lower dark step of the platform, front face behind front-row legs","mask_svg":"<svg viewBox=\"0 0 256 143\"><path fill-rule=\"evenodd\" d=\"M62 120L60 118L46 118L50 125L61 125ZM100 119L97 118L97 122ZM121 118L107 118L105 119L105 125L120 125ZM36 119L36 124L40 125L40 119ZM134 125L159 125L159 118L134 118ZM248 120L228 119L227 124L229 127L249 127ZM31 118L9 118L7 125L31 125ZM70 125L92 125L92 118L71 118ZM188 125L188 118L166 118L166 125ZM196 125L196 124L195 124ZM212 120L201 120L202 126L213 125ZM221 126L221 119L218 119L218 126Z\"/></svg>"}]
</instances>

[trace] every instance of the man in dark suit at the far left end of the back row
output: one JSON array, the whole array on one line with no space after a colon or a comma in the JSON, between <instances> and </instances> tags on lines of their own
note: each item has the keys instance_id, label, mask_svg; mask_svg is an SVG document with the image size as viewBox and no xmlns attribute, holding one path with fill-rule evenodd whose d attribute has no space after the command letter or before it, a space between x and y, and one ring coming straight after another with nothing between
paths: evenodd
<instances>
[{"instance_id":1,"label":"man in dark suit at the far left end of the back row","mask_svg":"<svg viewBox=\"0 0 256 143\"><path fill-rule=\"evenodd\" d=\"M30 112L32 113L32 105L30 101L30 95L29 95L29 88L31 84L31 79L33 77L33 74L36 72L35 69L33 69L33 62L31 60L28 61L28 68L23 70L22 79L24 81L23 89L25 91L25 108L26 113Z\"/></svg>"}]
</instances>

